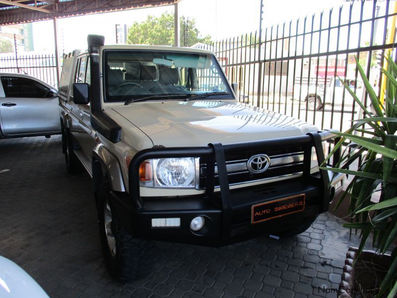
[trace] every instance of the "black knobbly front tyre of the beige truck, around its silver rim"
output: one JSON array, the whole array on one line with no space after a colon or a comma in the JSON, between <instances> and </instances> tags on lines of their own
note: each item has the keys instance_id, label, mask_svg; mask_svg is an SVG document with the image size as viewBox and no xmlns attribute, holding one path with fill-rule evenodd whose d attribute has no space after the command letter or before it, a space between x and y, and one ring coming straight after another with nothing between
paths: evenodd
<instances>
[{"instance_id":1,"label":"black knobbly front tyre of the beige truck, around its silver rim","mask_svg":"<svg viewBox=\"0 0 397 298\"><path fill-rule=\"evenodd\" d=\"M95 197L101 246L108 271L112 278L122 282L136 279L139 273L142 273L140 267L142 260L144 260L145 251L150 247L148 241L133 237L118 219L112 204L110 187L106 177L102 178ZM110 226L116 245L114 254L110 249L105 228L107 204L109 204L111 211L112 222Z\"/></svg>"}]
</instances>

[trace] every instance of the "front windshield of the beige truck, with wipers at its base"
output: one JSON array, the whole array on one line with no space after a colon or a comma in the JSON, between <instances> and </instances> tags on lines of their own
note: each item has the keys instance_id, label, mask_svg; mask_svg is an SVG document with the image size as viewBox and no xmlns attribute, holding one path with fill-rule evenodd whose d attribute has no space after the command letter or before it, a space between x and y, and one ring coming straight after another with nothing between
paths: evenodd
<instances>
[{"instance_id":1,"label":"front windshield of the beige truck, with wipers at its base","mask_svg":"<svg viewBox=\"0 0 397 298\"><path fill-rule=\"evenodd\" d=\"M213 55L171 51L107 50L105 101L232 99ZM185 95L185 96L184 96Z\"/></svg>"}]
</instances>

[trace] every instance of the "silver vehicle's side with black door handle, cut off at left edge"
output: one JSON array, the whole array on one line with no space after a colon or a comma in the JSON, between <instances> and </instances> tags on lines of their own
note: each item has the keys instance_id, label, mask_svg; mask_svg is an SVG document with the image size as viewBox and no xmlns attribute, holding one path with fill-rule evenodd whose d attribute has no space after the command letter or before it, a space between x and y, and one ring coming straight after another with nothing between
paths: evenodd
<instances>
[{"instance_id":1,"label":"silver vehicle's side with black door handle, cut off at left edge","mask_svg":"<svg viewBox=\"0 0 397 298\"><path fill-rule=\"evenodd\" d=\"M58 96L42 82L18 75L1 75L0 118L5 136L59 133Z\"/></svg>"}]
</instances>

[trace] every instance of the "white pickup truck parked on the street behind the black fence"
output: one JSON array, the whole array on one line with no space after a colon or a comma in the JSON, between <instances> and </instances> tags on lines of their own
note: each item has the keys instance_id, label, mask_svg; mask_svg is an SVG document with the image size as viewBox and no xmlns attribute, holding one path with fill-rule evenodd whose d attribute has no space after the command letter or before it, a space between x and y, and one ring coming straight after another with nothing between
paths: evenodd
<instances>
[{"instance_id":1,"label":"white pickup truck parked on the street behind the black fence","mask_svg":"<svg viewBox=\"0 0 397 298\"><path fill-rule=\"evenodd\" d=\"M354 78L347 78L346 83L361 98L363 84ZM335 84L335 87L333 86ZM343 95L344 94L344 95ZM352 106L353 97L346 91L338 78L295 77L294 98L306 102L309 111L321 110L326 104Z\"/></svg>"}]
</instances>

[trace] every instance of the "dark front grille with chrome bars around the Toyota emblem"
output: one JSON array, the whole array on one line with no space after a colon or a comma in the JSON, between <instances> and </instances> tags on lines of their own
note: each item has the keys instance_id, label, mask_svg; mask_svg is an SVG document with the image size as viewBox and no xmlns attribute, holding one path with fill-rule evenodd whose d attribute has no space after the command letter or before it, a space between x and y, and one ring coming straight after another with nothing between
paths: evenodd
<instances>
[{"instance_id":1,"label":"dark front grille with chrome bars around the Toyota emblem","mask_svg":"<svg viewBox=\"0 0 397 298\"><path fill-rule=\"evenodd\" d=\"M266 154L270 157L270 166L264 173L252 174L248 171L247 161L256 154ZM264 149L261 151L245 151L226 154L226 169L229 185L237 185L257 180L266 180L280 176L303 172L303 150L299 145ZM206 163L200 159L199 187L205 188ZM214 185L219 186L218 171L215 163Z\"/></svg>"}]
</instances>

